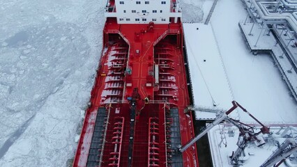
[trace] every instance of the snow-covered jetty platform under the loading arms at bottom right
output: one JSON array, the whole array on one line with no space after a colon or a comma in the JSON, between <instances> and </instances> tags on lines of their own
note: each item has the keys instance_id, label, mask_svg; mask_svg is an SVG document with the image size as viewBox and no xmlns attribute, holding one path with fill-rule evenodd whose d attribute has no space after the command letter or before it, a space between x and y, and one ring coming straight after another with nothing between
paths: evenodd
<instances>
[{"instance_id":1,"label":"snow-covered jetty platform under the loading arms at bottom right","mask_svg":"<svg viewBox=\"0 0 297 167\"><path fill-rule=\"evenodd\" d=\"M251 126L255 131L259 131L261 128L258 125ZM275 156L273 154L274 152L281 152L282 148L284 148L282 145L286 141L296 141L296 125L269 125L269 127L271 134L261 135L261 138L266 143L258 147L257 141L248 142L246 148L243 150L243 154L238 157L238 166L269 166L267 162L282 159L282 154ZM211 155L213 166L232 166L229 156L238 148L238 145L236 145L238 136L238 128L227 123L217 125L208 132L211 152L213 153ZM287 146L287 150L293 150L294 152L295 149L295 146ZM293 154L284 161L287 166L296 166L297 164L297 160ZM280 166L286 166L285 164L281 164Z\"/></svg>"}]
</instances>

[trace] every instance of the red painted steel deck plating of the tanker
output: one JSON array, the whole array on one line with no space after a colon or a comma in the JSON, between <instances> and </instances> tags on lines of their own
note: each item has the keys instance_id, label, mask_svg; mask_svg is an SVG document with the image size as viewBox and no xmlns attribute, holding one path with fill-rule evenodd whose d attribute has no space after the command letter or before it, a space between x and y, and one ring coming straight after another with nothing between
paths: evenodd
<instances>
[{"instance_id":1,"label":"red painted steel deck plating of the tanker","mask_svg":"<svg viewBox=\"0 0 297 167\"><path fill-rule=\"evenodd\" d=\"M107 18L103 31L102 51L96 82L91 91L91 105L79 138L73 166L86 166L93 136L98 107L105 106L109 113L101 166L128 166L130 104L128 97L138 88L137 120L135 120L132 166L169 166L165 141L165 109L178 108L181 144L195 136L192 116L183 113L190 104L183 58L183 29L177 24L117 24ZM155 65L159 69L159 81L155 84ZM165 104L165 101L167 102ZM117 113L119 111L119 113ZM115 118L121 117L121 145L112 143ZM156 127L149 125L158 120ZM156 121L155 121L156 122ZM155 139L158 136L158 141ZM152 142L152 143L151 143ZM159 143L159 145L157 144ZM151 150L158 150L152 152ZM151 155L150 155L151 152ZM158 153L158 154L156 154ZM158 156L157 156L158 155ZM100 155L98 155L100 156ZM121 160L121 161L120 161ZM183 152L183 166L199 166L195 145Z\"/></svg>"}]
</instances>

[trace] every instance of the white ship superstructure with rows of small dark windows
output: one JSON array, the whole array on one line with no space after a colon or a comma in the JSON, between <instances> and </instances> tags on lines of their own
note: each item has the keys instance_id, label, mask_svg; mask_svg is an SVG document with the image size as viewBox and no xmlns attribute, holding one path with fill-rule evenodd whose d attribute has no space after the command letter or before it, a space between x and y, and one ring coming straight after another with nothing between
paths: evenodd
<instances>
[{"instance_id":1,"label":"white ship superstructure with rows of small dark windows","mask_svg":"<svg viewBox=\"0 0 297 167\"><path fill-rule=\"evenodd\" d=\"M176 0L107 0L105 17L118 24L169 24L181 20L181 7Z\"/></svg>"}]
</instances>

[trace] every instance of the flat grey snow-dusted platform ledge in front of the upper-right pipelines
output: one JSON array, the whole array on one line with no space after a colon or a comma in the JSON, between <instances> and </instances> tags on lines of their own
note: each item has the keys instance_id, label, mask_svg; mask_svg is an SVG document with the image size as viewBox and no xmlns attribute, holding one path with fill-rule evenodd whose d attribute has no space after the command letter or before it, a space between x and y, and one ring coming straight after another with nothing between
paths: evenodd
<instances>
[{"instance_id":1,"label":"flat grey snow-dusted platform ledge in front of the upper-right pipelines","mask_svg":"<svg viewBox=\"0 0 297 167\"><path fill-rule=\"evenodd\" d=\"M290 58L287 56L287 51L284 50L279 41L275 39L271 31L266 29L265 26L261 26L257 23L240 22L239 27L243 33L246 43L250 51L256 55L258 53L269 53L275 61L282 79L286 81L291 94L297 101L297 73L296 66ZM297 48L294 47L293 49Z\"/></svg>"}]
</instances>

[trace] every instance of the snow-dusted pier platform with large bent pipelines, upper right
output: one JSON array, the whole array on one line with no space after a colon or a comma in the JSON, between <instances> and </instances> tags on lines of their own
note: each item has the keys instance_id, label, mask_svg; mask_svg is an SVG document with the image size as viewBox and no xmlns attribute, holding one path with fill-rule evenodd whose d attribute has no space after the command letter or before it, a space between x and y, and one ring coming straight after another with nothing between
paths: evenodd
<instances>
[{"instance_id":1,"label":"snow-dusted pier platform with large bent pipelines, upper right","mask_svg":"<svg viewBox=\"0 0 297 167\"><path fill-rule=\"evenodd\" d=\"M250 51L254 55L271 54L297 101L297 3L287 0L242 1L248 16L238 25Z\"/></svg>"}]
</instances>

